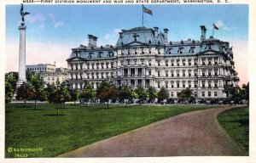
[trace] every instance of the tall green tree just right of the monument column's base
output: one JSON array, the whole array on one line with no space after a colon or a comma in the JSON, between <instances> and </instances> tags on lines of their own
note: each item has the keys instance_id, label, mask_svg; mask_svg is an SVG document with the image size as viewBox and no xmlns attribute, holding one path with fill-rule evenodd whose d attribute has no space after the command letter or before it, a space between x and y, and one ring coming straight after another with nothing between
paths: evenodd
<instances>
[{"instance_id":1,"label":"tall green tree just right of the monument column's base","mask_svg":"<svg viewBox=\"0 0 256 163\"><path fill-rule=\"evenodd\" d=\"M47 92L44 89L43 79L38 75L31 75L30 81L32 84L33 96L32 99L35 101L35 110L37 110L37 101L44 101L47 97Z\"/></svg>"}]
</instances>

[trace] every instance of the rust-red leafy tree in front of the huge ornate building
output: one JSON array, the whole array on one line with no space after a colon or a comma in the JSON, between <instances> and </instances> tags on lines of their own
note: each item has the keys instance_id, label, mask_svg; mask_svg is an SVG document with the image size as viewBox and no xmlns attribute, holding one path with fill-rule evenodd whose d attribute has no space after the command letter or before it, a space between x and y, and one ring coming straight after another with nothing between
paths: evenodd
<instances>
[{"instance_id":1,"label":"rust-red leafy tree in front of the huge ornate building","mask_svg":"<svg viewBox=\"0 0 256 163\"><path fill-rule=\"evenodd\" d=\"M119 96L119 91L116 87L105 87L102 91L102 93L99 94L99 98L102 101L107 101L109 103L110 99L116 99ZM109 108L109 107L108 107Z\"/></svg>"}]
</instances>

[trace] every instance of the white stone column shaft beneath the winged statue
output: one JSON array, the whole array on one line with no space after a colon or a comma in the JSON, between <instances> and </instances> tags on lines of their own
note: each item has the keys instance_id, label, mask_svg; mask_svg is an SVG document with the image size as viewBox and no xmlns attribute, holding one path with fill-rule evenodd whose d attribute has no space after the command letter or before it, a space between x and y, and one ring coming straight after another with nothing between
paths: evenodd
<instances>
[{"instance_id":1,"label":"white stone column shaft beneath the winged statue","mask_svg":"<svg viewBox=\"0 0 256 163\"><path fill-rule=\"evenodd\" d=\"M26 25L20 25L19 79L17 87L26 82Z\"/></svg>"}]
</instances>

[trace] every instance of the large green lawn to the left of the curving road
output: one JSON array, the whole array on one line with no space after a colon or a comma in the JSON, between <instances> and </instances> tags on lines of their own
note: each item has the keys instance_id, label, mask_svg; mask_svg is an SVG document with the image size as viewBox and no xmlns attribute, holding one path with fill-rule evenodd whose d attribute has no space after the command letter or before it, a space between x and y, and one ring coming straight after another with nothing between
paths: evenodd
<instances>
[{"instance_id":1,"label":"large green lawn to the left of the curving road","mask_svg":"<svg viewBox=\"0 0 256 163\"><path fill-rule=\"evenodd\" d=\"M218 107L218 106L216 106ZM6 106L6 157L26 153L28 157L54 157L84 145L131 131L154 121L209 105L104 106L67 105L56 114L53 104L26 108L22 104ZM34 149L39 152L8 152L7 149Z\"/></svg>"}]
</instances>

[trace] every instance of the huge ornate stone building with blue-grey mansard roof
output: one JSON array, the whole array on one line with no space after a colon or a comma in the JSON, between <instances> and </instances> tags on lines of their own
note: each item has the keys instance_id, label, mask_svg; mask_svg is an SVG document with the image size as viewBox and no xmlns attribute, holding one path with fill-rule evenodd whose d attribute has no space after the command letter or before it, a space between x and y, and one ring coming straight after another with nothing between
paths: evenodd
<instances>
[{"instance_id":1,"label":"huge ornate stone building with blue-grey mansard roof","mask_svg":"<svg viewBox=\"0 0 256 163\"><path fill-rule=\"evenodd\" d=\"M196 98L224 98L224 85L239 81L229 42L206 38L168 41L168 30L137 27L119 32L115 46L99 47L88 35L88 46L73 48L67 59L67 80L72 87L90 82L96 88L104 79L116 85L166 87L171 98L189 87Z\"/></svg>"}]
</instances>

